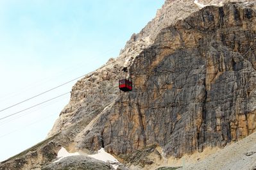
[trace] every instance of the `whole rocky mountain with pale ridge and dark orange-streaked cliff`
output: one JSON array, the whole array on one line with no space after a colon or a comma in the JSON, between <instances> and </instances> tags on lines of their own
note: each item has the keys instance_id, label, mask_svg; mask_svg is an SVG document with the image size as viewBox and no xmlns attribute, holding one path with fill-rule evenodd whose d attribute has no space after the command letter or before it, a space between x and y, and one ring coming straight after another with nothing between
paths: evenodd
<instances>
[{"instance_id":1,"label":"whole rocky mountain with pale ridge and dark orange-streaked cliff","mask_svg":"<svg viewBox=\"0 0 256 170\"><path fill-rule=\"evenodd\" d=\"M255 9L255 1L167 0L118 58L76 82L46 141L0 169L56 169L62 147L84 155L104 148L130 169L155 169L252 134ZM133 91L119 91L124 77ZM79 160L96 161L62 165Z\"/></svg>"}]
</instances>

